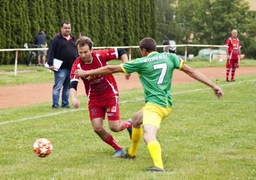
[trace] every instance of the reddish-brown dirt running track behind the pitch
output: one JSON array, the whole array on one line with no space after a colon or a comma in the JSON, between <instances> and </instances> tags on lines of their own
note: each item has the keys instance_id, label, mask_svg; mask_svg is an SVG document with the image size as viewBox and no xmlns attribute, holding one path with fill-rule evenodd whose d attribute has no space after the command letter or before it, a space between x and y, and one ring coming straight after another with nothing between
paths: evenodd
<instances>
[{"instance_id":1,"label":"reddish-brown dirt running track behind the pitch","mask_svg":"<svg viewBox=\"0 0 256 180\"><path fill-rule=\"evenodd\" d=\"M220 80L225 80L226 69L224 67L199 68L198 70L205 74L209 79L218 77ZM244 74L256 74L256 67L240 67L235 72L235 76ZM115 79L119 90L142 87L136 73L133 73L129 80L126 80L124 75L115 75ZM182 71L174 70L173 84L189 81L195 80ZM38 102L51 102L52 87L53 83L0 86L0 109L35 104ZM82 94L85 94L85 88L80 80L80 83L78 83L77 95ZM51 108L51 103L49 103L49 108Z\"/></svg>"}]
</instances>

